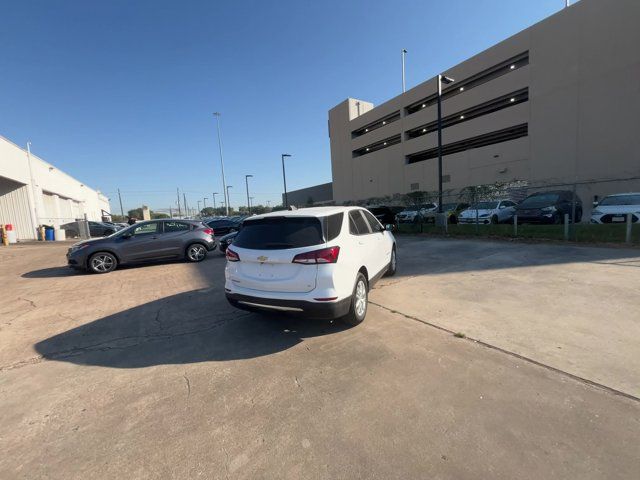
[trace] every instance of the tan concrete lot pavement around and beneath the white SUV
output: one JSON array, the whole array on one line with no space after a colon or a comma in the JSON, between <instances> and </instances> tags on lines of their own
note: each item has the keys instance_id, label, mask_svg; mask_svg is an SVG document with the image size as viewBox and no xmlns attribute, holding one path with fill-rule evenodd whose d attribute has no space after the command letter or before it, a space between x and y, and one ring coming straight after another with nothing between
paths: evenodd
<instances>
[{"instance_id":1,"label":"tan concrete lot pavement around and beneath the white SUV","mask_svg":"<svg viewBox=\"0 0 640 480\"><path fill-rule=\"evenodd\" d=\"M218 255L79 275L63 266L65 248L0 249L2 479L640 471L637 250L403 238L399 275L347 328L232 309ZM517 309L487 297L507 272L537 284L508 288ZM604 282L606 294L569 277ZM575 334L578 314L560 321L556 296L587 305L586 333ZM616 328L593 325L607 304ZM594 357L587 366L580 351Z\"/></svg>"}]
</instances>

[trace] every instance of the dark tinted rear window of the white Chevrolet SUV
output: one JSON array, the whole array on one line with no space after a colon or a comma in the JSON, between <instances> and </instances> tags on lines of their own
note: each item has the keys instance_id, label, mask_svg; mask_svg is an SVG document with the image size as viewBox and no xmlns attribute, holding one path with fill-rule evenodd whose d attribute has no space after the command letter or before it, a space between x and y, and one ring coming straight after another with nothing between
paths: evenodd
<instances>
[{"instance_id":1,"label":"dark tinted rear window of the white Chevrolet SUV","mask_svg":"<svg viewBox=\"0 0 640 480\"><path fill-rule=\"evenodd\" d=\"M324 243L322 225L315 217L267 217L245 220L233 241L240 248L280 250Z\"/></svg>"}]
</instances>

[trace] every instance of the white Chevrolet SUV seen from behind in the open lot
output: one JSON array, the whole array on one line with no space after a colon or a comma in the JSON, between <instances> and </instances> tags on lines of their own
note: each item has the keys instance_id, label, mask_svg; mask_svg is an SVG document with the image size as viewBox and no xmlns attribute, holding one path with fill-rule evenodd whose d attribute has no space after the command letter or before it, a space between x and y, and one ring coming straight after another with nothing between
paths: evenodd
<instances>
[{"instance_id":1,"label":"white Chevrolet SUV seen from behind in the open lot","mask_svg":"<svg viewBox=\"0 0 640 480\"><path fill-rule=\"evenodd\" d=\"M396 241L358 207L316 207L247 218L227 249L225 293L244 310L297 312L358 324L368 291L396 271Z\"/></svg>"}]
</instances>

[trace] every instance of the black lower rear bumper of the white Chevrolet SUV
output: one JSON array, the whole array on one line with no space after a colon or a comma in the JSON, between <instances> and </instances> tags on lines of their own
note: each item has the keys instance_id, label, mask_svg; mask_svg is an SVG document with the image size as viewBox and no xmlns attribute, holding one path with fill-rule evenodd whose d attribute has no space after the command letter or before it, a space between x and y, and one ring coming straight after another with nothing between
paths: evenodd
<instances>
[{"instance_id":1,"label":"black lower rear bumper of the white Chevrolet SUV","mask_svg":"<svg viewBox=\"0 0 640 480\"><path fill-rule=\"evenodd\" d=\"M252 297L240 293L225 292L228 302L236 308L249 311L293 313L308 318L334 319L349 313L351 297L335 302L308 302L306 300L282 300Z\"/></svg>"}]
</instances>

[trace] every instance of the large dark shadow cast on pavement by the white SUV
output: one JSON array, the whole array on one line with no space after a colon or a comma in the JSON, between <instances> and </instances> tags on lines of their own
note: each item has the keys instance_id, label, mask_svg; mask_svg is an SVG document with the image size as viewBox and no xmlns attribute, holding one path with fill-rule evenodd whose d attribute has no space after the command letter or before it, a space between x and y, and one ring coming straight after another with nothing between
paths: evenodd
<instances>
[{"instance_id":1,"label":"large dark shadow cast on pavement by the white SUV","mask_svg":"<svg viewBox=\"0 0 640 480\"><path fill-rule=\"evenodd\" d=\"M347 328L340 322L236 310L219 288L207 288L100 318L43 340L35 349L50 360L141 368L256 358Z\"/></svg>"}]
</instances>

